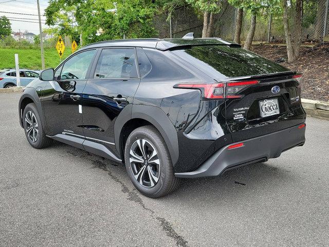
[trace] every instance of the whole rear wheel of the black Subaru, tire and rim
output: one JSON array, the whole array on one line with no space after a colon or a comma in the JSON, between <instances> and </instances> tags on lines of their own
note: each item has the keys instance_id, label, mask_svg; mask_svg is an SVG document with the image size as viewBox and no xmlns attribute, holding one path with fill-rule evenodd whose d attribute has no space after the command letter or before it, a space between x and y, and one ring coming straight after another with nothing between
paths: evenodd
<instances>
[{"instance_id":1,"label":"whole rear wheel of the black Subaru, tire and rim","mask_svg":"<svg viewBox=\"0 0 329 247\"><path fill-rule=\"evenodd\" d=\"M153 126L139 127L129 135L124 158L132 183L144 196L164 197L179 186L166 142Z\"/></svg>"}]
</instances>

